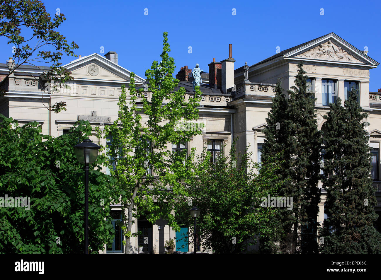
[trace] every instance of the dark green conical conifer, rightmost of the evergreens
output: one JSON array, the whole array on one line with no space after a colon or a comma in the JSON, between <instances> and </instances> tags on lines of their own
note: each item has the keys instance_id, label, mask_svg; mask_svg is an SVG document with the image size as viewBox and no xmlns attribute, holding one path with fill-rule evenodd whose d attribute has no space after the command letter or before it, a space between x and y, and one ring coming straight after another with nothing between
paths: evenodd
<instances>
[{"instance_id":1,"label":"dark green conical conifer, rightmost of the evergreens","mask_svg":"<svg viewBox=\"0 0 381 280\"><path fill-rule=\"evenodd\" d=\"M348 100L330 104L324 118L325 144L323 186L326 211L320 236L321 251L336 254L381 253L381 235L374 227L378 215L376 187L372 186L371 148L363 122L368 114L357 102L352 88Z\"/></svg>"}]
</instances>

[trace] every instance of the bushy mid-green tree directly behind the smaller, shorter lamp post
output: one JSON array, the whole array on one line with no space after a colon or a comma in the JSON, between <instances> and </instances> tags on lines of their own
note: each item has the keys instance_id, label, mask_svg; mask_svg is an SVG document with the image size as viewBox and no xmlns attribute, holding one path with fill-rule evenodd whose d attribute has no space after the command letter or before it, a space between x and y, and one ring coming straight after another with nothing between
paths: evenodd
<instances>
[{"instance_id":1,"label":"bushy mid-green tree directly behind the smaller, shorter lamp post","mask_svg":"<svg viewBox=\"0 0 381 280\"><path fill-rule=\"evenodd\" d=\"M282 184L275 175L281 165L279 155L261 166L253 163L250 156L247 149L236 154L232 146L229 157L222 152L213 163L210 152L203 149L184 182L188 196L174 204L176 219L178 223L192 225L193 230L189 209L200 208L196 233L205 249L213 249L215 253L242 253L256 244L259 235L271 236L274 232L269 222L277 209L262 207L261 198L273 196ZM192 234L189 242L193 240Z\"/></svg>"}]
</instances>

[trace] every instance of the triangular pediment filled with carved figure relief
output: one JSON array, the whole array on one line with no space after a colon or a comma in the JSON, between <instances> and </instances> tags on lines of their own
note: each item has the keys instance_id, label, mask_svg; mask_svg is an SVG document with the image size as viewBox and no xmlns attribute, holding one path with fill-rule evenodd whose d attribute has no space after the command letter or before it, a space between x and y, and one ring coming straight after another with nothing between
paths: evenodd
<instances>
[{"instance_id":1,"label":"triangular pediment filled with carved figure relief","mask_svg":"<svg viewBox=\"0 0 381 280\"><path fill-rule=\"evenodd\" d=\"M339 64L367 65L376 67L379 63L358 50L335 33L302 44L285 53L284 58L304 61L325 61Z\"/></svg>"}]
</instances>

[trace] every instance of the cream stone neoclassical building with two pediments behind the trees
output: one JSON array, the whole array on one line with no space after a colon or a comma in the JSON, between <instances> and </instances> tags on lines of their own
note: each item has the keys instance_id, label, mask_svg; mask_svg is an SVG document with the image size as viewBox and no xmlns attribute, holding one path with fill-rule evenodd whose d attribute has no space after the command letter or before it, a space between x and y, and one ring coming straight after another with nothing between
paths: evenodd
<instances>
[{"instance_id":1,"label":"cream stone neoclassical building with two pediments behind the trees","mask_svg":"<svg viewBox=\"0 0 381 280\"><path fill-rule=\"evenodd\" d=\"M213 59L208 64L209 72L204 72L204 79L207 78L208 84L204 82L200 87L203 95L199 115L200 121L206 126L202 134L194 136L181 148L191 150L196 147L197 152L201 152L206 146L214 153L221 149L228 152L232 139L239 136L237 149L243 150L250 145L252 159L260 161L265 139L262 130L271 109L275 83L280 78L282 87L290 88L297 74L296 65L301 61L311 78L311 89L316 94L315 108L319 129L324 129L323 115L329 110L329 102L335 101L337 97L344 102L352 86L359 89L360 105L369 113L367 121L370 125L367 129L370 146L373 148L371 176L375 186L378 186L376 211L381 214L381 90L369 91L370 70L379 63L334 33L289 48L251 66L245 64L238 68L234 65L230 45L229 57L220 62ZM8 64L0 64L0 78L9 72ZM17 119L21 125L37 121L42 125L42 133L52 136L65 133L80 119L88 120L93 127L100 126L101 129L112 123L117 118L121 85L128 86L131 73L118 65L117 54L109 52L101 56L94 53L80 57L64 67L74 77L69 83L71 89L61 88L54 94L48 93L48 85L39 83L38 79L31 76L38 77L44 68L19 67L9 77L6 96L0 99L0 113ZM178 86L183 86L187 91L186 99L192 96L193 91L190 71L191 69L184 66L176 75L180 80ZM137 86L144 87L144 78L136 76L135 82ZM150 92L145 94L150 99ZM66 102L66 111L54 114L46 109L60 101ZM96 138L95 131L91 140L107 145L106 139ZM179 148L168 143L168 149ZM104 172L108 173L108 170L104 168ZM325 194L322 193L317 217L320 223L325 218L324 202ZM112 213L115 224L121 219L121 206L114 205ZM107 248L105 246L101 253L123 252L124 237L117 226L115 229L117 234L114 243ZM163 253L166 240L189 233L187 227L181 228L181 232L174 232L163 220L150 224L144 218L133 224L133 232L137 231L148 237L148 243L143 242L142 237L132 238L135 253L138 253L139 247L143 247L142 250L146 253ZM194 250L192 244L184 245L185 248L176 248L179 248L178 251Z\"/></svg>"}]
</instances>

